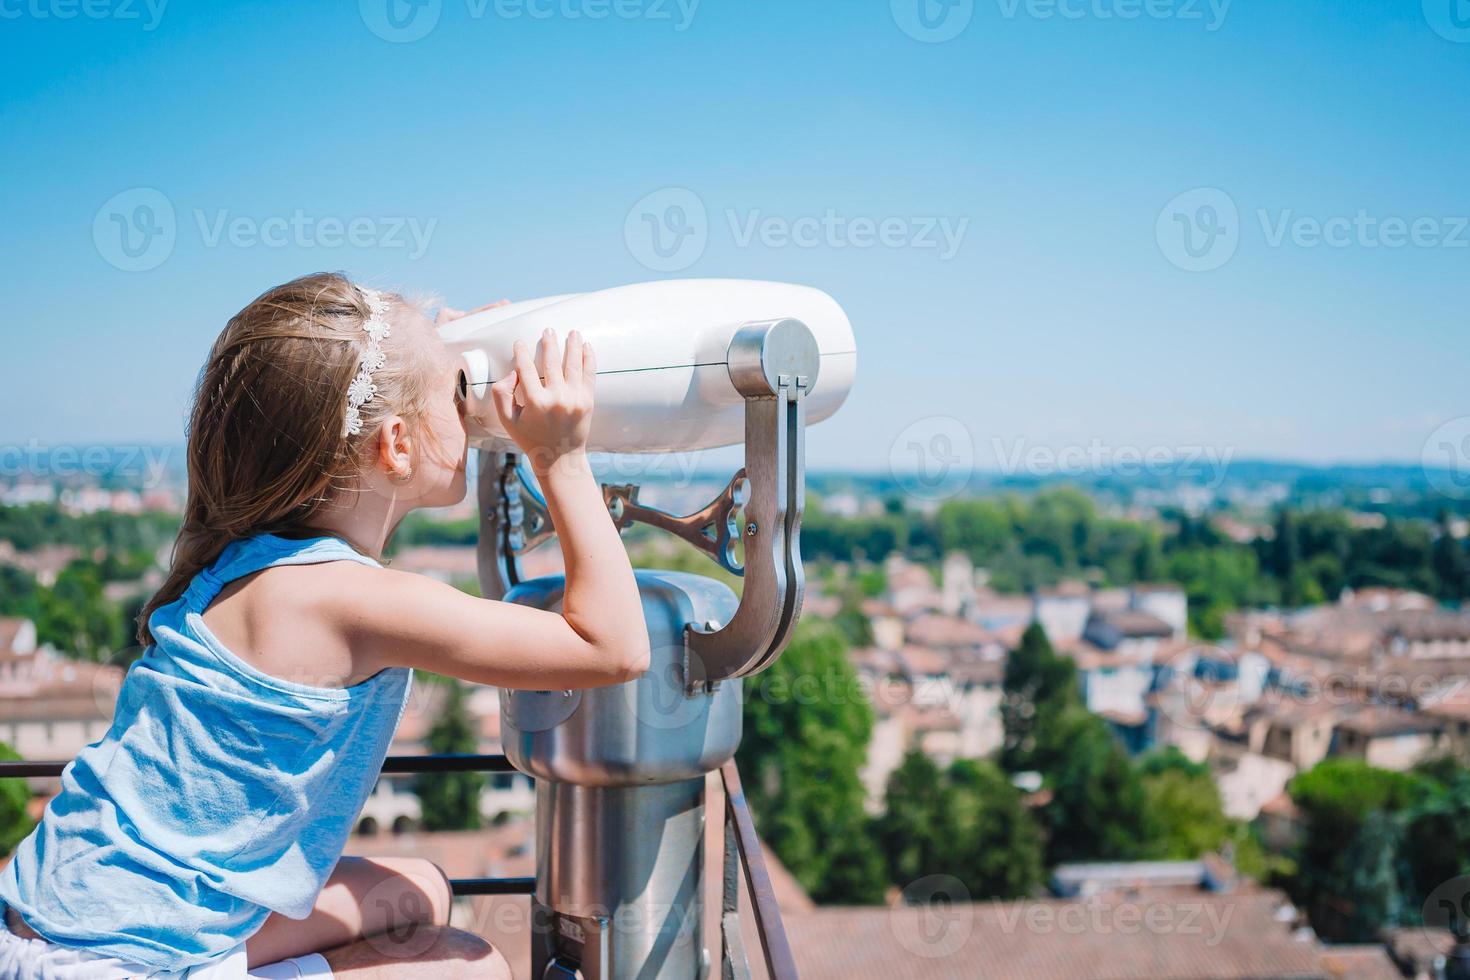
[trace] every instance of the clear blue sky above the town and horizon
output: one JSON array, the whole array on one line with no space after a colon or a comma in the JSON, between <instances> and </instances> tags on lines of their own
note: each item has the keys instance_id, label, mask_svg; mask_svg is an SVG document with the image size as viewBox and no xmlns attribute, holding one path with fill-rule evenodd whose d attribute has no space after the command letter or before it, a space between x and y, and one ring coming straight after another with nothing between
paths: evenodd
<instances>
[{"instance_id":1,"label":"clear blue sky above the town and horizon","mask_svg":"<svg viewBox=\"0 0 1470 980\"><path fill-rule=\"evenodd\" d=\"M1470 0L0 0L0 442L181 438L318 269L820 287L814 466L1416 461L1470 414Z\"/></svg>"}]
</instances>

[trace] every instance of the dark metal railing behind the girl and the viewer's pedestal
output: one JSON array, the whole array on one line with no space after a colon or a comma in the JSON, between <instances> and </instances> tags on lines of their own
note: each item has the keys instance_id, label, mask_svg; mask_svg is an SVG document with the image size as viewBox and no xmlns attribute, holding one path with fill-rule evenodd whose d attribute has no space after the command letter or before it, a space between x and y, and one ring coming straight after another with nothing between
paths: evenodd
<instances>
[{"instance_id":1,"label":"dark metal railing behind the girl and the viewer's pedestal","mask_svg":"<svg viewBox=\"0 0 1470 980\"><path fill-rule=\"evenodd\" d=\"M0 761L0 779L56 779L66 768L63 761ZM514 773L516 767L504 755L390 755L384 760L384 776L416 773ZM766 858L756 836L741 789L739 771L729 761L720 767L725 788L725 873L720 908L720 971L722 980L747 980L750 961L739 932L739 887L744 868L750 904L754 909L756 932L760 936L766 973L772 980L797 980L797 964L781 923L776 893L766 871ZM456 896L532 895L534 877L451 879Z\"/></svg>"}]
</instances>

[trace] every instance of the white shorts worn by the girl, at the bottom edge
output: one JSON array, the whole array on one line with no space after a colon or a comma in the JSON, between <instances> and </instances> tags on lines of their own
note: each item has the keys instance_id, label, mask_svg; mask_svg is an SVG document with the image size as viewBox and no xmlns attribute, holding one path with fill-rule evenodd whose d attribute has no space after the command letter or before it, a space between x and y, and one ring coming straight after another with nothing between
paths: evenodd
<instances>
[{"instance_id":1,"label":"white shorts worn by the girl, at the bottom edge","mask_svg":"<svg viewBox=\"0 0 1470 980\"><path fill-rule=\"evenodd\" d=\"M191 970L157 973L116 956L100 956L85 949L72 949L16 936L4 924L0 905L0 980L135 980L137 977L168 977L169 980L331 980L332 968L320 954L291 956L279 962L245 968L245 945L231 949L219 962Z\"/></svg>"}]
</instances>

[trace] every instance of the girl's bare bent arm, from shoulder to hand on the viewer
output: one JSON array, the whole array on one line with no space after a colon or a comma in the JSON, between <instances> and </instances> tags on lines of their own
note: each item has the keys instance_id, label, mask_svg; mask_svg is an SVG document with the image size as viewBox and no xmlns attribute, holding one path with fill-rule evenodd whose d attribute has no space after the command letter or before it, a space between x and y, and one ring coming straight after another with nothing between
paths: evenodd
<instances>
[{"instance_id":1,"label":"girl's bare bent arm, from shoulder to hand on the viewer","mask_svg":"<svg viewBox=\"0 0 1470 980\"><path fill-rule=\"evenodd\" d=\"M334 619L378 669L406 666L519 689L594 688L648 669L628 552L587 458L597 361L573 331L550 331L532 363L492 386L495 411L531 461L566 560L560 613L465 595L432 579L345 566ZM350 582L348 582L350 579Z\"/></svg>"}]
</instances>

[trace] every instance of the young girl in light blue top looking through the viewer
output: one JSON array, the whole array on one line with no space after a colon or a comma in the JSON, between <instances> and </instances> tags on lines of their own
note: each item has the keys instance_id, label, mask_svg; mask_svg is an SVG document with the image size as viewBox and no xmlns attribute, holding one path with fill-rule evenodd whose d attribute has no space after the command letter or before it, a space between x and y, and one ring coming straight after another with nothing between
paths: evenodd
<instances>
[{"instance_id":1,"label":"young girl in light blue top looking through the viewer","mask_svg":"<svg viewBox=\"0 0 1470 980\"><path fill-rule=\"evenodd\" d=\"M196 391L146 651L0 873L0 979L509 977L448 927L438 868L341 851L412 669L542 691L647 669L587 461L595 370L576 331L564 350L548 331L492 386L566 557L548 613L381 563L409 511L466 489L456 363L417 307L312 275L229 322Z\"/></svg>"}]
</instances>

